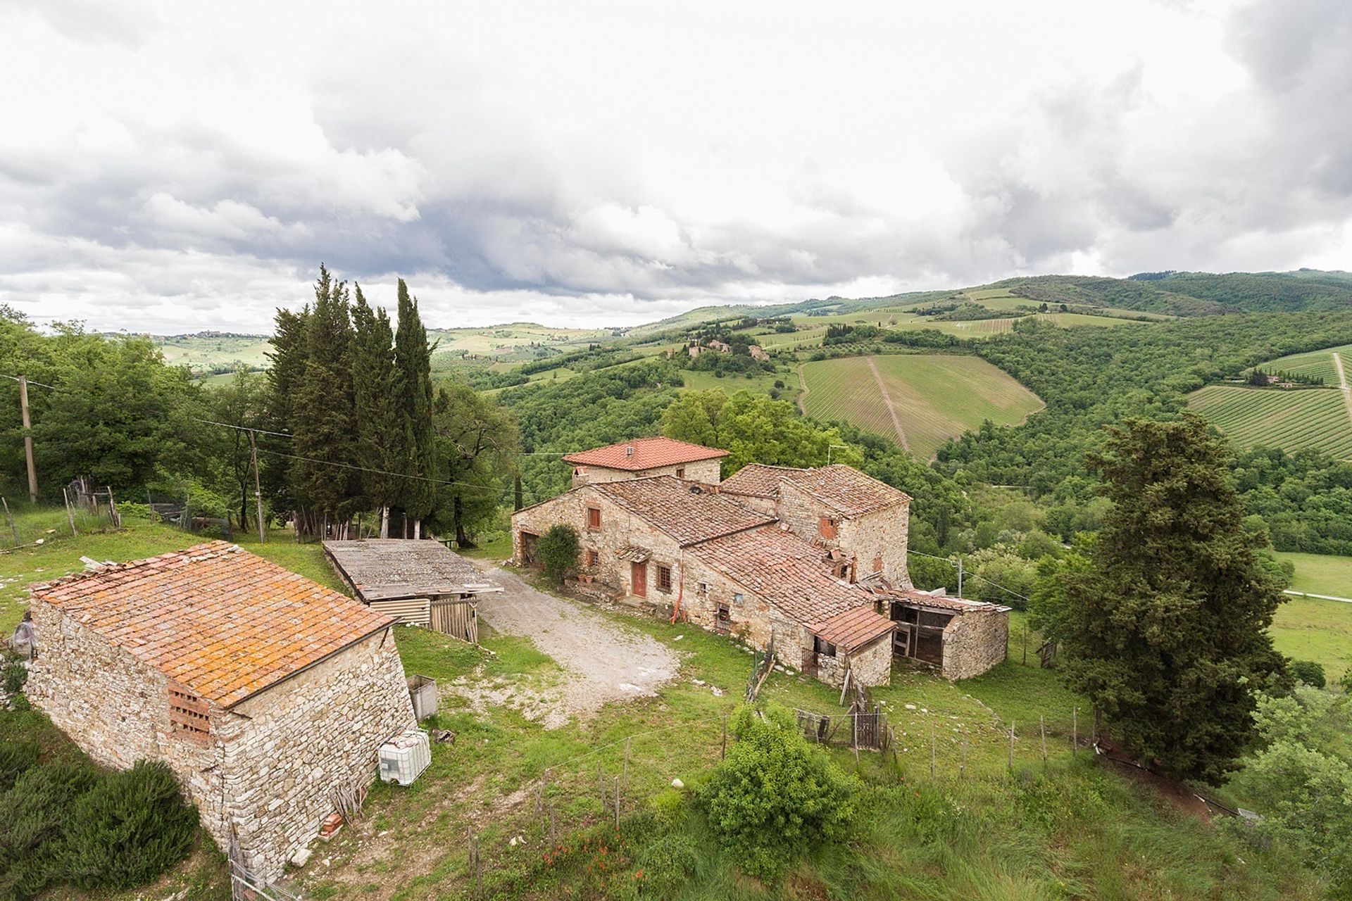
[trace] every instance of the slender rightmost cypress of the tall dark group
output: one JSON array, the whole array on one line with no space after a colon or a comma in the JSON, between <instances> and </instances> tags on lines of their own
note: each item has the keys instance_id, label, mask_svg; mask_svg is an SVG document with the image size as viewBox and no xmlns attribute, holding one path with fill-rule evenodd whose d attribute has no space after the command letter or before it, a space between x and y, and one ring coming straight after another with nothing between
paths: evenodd
<instances>
[{"instance_id":1,"label":"slender rightmost cypress of the tall dark group","mask_svg":"<svg viewBox=\"0 0 1352 901\"><path fill-rule=\"evenodd\" d=\"M422 520L431 513L437 486L427 478L437 477L435 436L433 435L431 347L427 330L418 315L418 300L410 297L408 285L399 280L399 327L395 332L395 362L403 388L404 478L400 507L414 520L418 536ZM420 477L420 478L416 478Z\"/></svg>"}]
</instances>

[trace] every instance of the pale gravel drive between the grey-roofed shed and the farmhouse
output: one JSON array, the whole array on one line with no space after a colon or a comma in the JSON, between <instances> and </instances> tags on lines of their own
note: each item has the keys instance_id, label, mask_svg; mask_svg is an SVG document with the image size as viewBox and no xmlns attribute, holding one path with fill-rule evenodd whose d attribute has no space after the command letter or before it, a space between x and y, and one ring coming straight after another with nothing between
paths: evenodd
<instances>
[{"instance_id":1,"label":"pale gravel drive between the grey-roofed shed and the farmhouse","mask_svg":"<svg viewBox=\"0 0 1352 901\"><path fill-rule=\"evenodd\" d=\"M603 704L646 697L680 669L676 654L642 632L625 629L583 604L537 592L519 575L475 562L503 586L479 600L479 616L507 635L529 638L564 671L561 700L542 712L546 728L585 717Z\"/></svg>"}]
</instances>

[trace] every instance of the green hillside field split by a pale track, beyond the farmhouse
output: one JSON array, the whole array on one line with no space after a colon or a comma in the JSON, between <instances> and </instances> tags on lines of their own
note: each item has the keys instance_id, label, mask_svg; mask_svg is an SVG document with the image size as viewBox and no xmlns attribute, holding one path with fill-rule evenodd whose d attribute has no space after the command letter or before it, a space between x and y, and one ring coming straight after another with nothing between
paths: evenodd
<instances>
[{"instance_id":1,"label":"green hillside field split by a pale track, beyond the farmhouse","mask_svg":"<svg viewBox=\"0 0 1352 901\"><path fill-rule=\"evenodd\" d=\"M984 420L1014 426L1041 409L1037 394L976 357L904 354L804 363L807 415L896 438L921 459Z\"/></svg>"}]
</instances>

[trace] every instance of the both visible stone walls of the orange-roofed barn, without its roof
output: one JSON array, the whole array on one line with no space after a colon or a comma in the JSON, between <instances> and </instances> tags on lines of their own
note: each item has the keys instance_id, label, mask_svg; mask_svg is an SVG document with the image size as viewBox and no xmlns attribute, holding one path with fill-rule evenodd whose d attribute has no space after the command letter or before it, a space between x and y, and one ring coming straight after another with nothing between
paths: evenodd
<instances>
[{"instance_id":1,"label":"both visible stone walls of the orange-roofed barn, without its roof","mask_svg":"<svg viewBox=\"0 0 1352 901\"><path fill-rule=\"evenodd\" d=\"M389 629L230 711L210 704L210 738L199 744L170 729L162 671L39 598L30 609L34 705L99 763L164 761L222 851L234 827L246 862L268 879L319 832L334 809L329 789L375 779L380 744L415 724Z\"/></svg>"}]
</instances>

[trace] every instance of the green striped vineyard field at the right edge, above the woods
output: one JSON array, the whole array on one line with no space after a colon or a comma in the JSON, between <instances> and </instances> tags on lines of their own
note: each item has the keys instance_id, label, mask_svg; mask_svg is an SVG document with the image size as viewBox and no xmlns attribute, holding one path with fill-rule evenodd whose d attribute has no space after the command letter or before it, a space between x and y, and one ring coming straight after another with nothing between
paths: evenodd
<instances>
[{"instance_id":1,"label":"green striped vineyard field at the right edge, above the woods","mask_svg":"<svg viewBox=\"0 0 1352 901\"><path fill-rule=\"evenodd\" d=\"M1240 447L1317 447L1338 459L1352 459L1352 419L1343 394L1336 388L1207 385L1188 396L1188 407Z\"/></svg>"}]
</instances>

